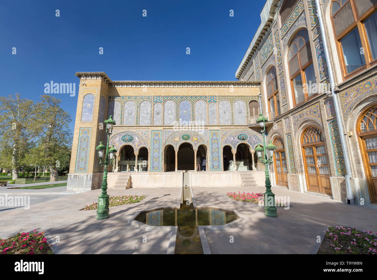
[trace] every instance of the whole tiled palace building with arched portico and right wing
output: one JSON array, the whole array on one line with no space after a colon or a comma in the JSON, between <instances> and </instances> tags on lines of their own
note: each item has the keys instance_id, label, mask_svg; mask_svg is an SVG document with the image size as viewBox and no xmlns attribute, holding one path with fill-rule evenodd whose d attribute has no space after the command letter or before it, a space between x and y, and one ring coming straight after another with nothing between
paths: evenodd
<instances>
[{"instance_id":1,"label":"whole tiled palace building with arched portico and right wing","mask_svg":"<svg viewBox=\"0 0 377 280\"><path fill-rule=\"evenodd\" d=\"M264 185L254 154L262 111L277 146L273 185L376 206L376 11L374 0L268 0L238 81L76 73L67 189L100 187L95 147L106 144L100 123L110 115L117 153L109 187L182 187L184 176L192 187ZM205 171L197 171L203 156Z\"/></svg>"}]
</instances>

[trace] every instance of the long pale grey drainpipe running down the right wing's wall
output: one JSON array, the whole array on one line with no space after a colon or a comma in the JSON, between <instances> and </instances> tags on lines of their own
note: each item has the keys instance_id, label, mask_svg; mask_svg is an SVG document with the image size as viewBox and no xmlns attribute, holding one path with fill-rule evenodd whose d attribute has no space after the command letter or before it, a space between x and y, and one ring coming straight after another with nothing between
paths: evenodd
<instances>
[{"instance_id":1,"label":"long pale grey drainpipe running down the right wing's wall","mask_svg":"<svg viewBox=\"0 0 377 280\"><path fill-rule=\"evenodd\" d=\"M334 100L336 119L337 119L338 124L339 124L338 127L339 127L340 142L342 144L344 162L345 162L345 165L346 165L346 175L344 176L345 179L346 179L346 191L347 191L346 203L354 205L355 204L355 196L352 193L351 180L350 180L351 177L352 177L351 165L349 164L348 149L347 149L347 145L346 145L346 139L345 139L345 136L344 136L343 122L342 122L342 118L340 116L337 92L334 90L335 89L334 73L333 73L333 68L331 67L331 64L330 64L330 55L329 55L329 51L328 51L327 40L325 38L325 27L323 26L323 21L322 21L321 6L320 6L320 3L319 3L319 0L315 0L315 1L316 1L317 11L318 11L317 16L318 16L319 26L321 28L323 48L325 49L326 64L327 64L327 69L328 69L328 72L329 72L331 93L333 95L333 100Z\"/></svg>"}]
</instances>

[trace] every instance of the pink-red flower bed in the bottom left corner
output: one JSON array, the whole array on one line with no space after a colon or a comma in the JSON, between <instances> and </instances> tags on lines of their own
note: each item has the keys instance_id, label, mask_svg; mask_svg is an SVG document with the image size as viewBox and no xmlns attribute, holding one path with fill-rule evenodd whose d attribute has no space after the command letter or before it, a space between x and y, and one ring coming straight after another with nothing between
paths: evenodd
<instances>
[{"instance_id":1,"label":"pink-red flower bed in the bottom left corner","mask_svg":"<svg viewBox=\"0 0 377 280\"><path fill-rule=\"evenodd\" d=\"M0 238L0 254L54 254L43 232L18 233L7 239Z\"/></svg>"}]
</instances>

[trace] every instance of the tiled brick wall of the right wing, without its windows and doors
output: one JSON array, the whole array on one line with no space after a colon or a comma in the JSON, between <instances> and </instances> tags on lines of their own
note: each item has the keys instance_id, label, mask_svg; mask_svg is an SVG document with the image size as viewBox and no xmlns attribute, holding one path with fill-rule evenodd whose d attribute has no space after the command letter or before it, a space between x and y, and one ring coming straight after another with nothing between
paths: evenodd
<instances>
[{"instance_id":1,"label":"tiled brick wall of the right wing, without its windows and doors","mask_svg":"<svg viewBox=\"0 0 377 280\"><path fill-rule=\"evenodd\" d=\"M340 141L339 125L345 132L348 157L351 165L352 195L355 203L365 200L366 204L373 205L369 197L365 175L365 162L360 151L360 138L357 135L357 120L360 114L374 103L377 103L377 67L369 69L352 78L345 78L339 63L341 56L334 44L334 30L331 24L331 0L320 0L325 40L329 47L331 61L329 64L334 73L337 90L335 98L339 102L342 119L336 117L336 108L332 95L319 86L318 94L312 98L296 104L294 102L293 85L290 80L288 48L294 35L302 28L306 28L309 35L311 56L316 77L316 84L329 82L329 70L326 61L321 33L318 9L315 0L300 0L293 8L287 20L281 22L280 11L284 8L284 0L273 1L270 7L270 16L274 19L266 22L264 30L259 34L262 39L256 42L254 48L249 47L245 55L248 56L243 65L236 72L240 81L261 81L263 112L270 112L265 85L266 75L271 67L276 67L279 84L281 114L273 118L272 127L268 130L268 140L275 137L286 141L288 185L290 190L307 191L305 163L303 159L302 135L311 126L318 127L324 138L324 145L328 151L329 177L333 199L345 200L345 157ZM290 2L291 3L291 2ZM343 3L343 2L342 2ZM277 7L277 8L275 8ZM257 29L257 28L255 28ZM257 34L256 34L257 35ZM257 37L257 36L256 36ZM274 49L274 51L271 51ZM248 62L250 61L250 62ZM254 74L255 73L255 74ZM331 92L330 92L331 93ZM268 116L273 116L268 113ZM270 118L271 119L271 118ZM284 121L284 124L282 124ZM272 183L274 168L272 166ZM342 193L342 195L339 195Z\"/></svg>"}]
</instances>

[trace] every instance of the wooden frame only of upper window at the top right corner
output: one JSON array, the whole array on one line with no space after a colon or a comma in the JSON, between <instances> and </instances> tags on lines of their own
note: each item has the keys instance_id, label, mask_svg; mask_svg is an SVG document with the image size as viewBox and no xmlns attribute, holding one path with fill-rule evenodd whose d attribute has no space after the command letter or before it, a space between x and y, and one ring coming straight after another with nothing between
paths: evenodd
<instances>
[{"instance_id":1,"label":"wooden frame only of upper window at the top right corner","mask_svg":"<svg viewBox=\"0 0 377 280\"><path fill-rule=\"evenodd\" d=\"M365 26L364 26L364 21L368 17L370 17L374 12L377 11L377 4L375 4L374 6L372 6L371 8L369 8L368 11L366 11L363 15L361 15L359 17L359 12L357 10L357 6L356 6L355 0L348 0L347 2L345 2L334 15L332 14L333 2L334 2L334 0L331 1L331 6L330 6L331 24L332 24L332 27L333 27L333 32L334 32L334 37L335 37L336 49L337 49L337 52L338 52L338 55L339 55L339 58L340 58L339 59L339 61L340 61L340 70L342 72L343 81L345 81L345 80L347 80L347 79L349 79L349 78L351 78L351 77L359 74L360 72L364 71L365 69L368 69L368 68L374 66L375 64L377 64L377 58L375 60L373 60L371 48L370 48L369 41L368 41L368 36L366 35L366 29L365 29ZM348 26L348 28L346 28L339 35L336 35L335 24L334 24L334 17L349 2L351 2L352 14L354 16L355 22L352 23L350 26ZM356 69L356 70L354 70L354 71L352 71L350 73L347 73L346 65L345 65L345 61L344 61L342 43L340 43L340 41L346 35L348 35L349 32L351 32L355 28L357 28L357 31L359 32L360 41L361 41L362 47L365 50L365 52L364 52L365 65L359 67L358 69Z\"/></svg>"}]
</instances>

